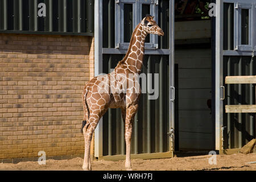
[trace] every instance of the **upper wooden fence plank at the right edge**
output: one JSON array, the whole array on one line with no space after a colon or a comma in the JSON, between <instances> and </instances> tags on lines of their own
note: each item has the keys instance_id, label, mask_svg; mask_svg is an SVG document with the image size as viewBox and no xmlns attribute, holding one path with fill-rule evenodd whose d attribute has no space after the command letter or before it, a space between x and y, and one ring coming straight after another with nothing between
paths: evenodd
<instances>
[{"instance_id":1,"label":"upper wooden fence plank at the right edge","mask_svg":"<svg viewBox=\"0 0 256 182\"><path fill-rule=\"evenodd\" d=\"M256 84L256 76L226 76L225 84Z\"/></svg>"}]
</instances>

